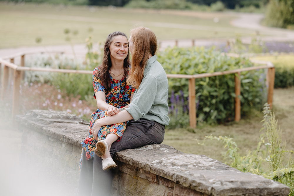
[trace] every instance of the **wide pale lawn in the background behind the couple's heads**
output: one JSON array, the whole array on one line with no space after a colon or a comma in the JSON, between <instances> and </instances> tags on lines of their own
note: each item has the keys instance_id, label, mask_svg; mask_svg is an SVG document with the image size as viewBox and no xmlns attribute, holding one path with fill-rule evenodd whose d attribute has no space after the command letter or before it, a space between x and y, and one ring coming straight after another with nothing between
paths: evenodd
<instances>
[{"instance_id":1,"label":"wide pale lawn in the background behind the couple's heads","mask_svg":"<svg viewBox=\"0 0 294 196\"><path fill-rule=\"evenodd\" d=\"M237 15L179 10L146 10L88 6L54 6L49 4L7 4L0 2L0 48L35 46L36 37L42 44L66 44L65 28L77 30L74 43L84 43L88 28L93 28L93 40L105 41L113 31L128 34L132 27L150 27L157 38L229 38L239 33L250 36L253 30L230 25ZM218 23L213 18L218 17ZM217 33L216 33L217 32Z\"/></svg>"}]
</instances>

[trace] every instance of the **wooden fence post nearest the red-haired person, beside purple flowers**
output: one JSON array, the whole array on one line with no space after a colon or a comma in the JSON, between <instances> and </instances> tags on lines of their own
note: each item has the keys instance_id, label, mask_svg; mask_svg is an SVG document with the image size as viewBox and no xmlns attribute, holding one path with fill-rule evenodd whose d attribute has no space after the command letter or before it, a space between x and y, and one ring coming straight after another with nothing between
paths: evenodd
<instances>
[{"instance_id":1,"label":"wooden fence post nearest the red-haired person, beside purple flowers","mask_svg":"<svg viewBox=\"0 0 294 196\"><path fill-rule=\"evenodd\" d=\"M190 127L195 129L196 128L195 78L189 79L188 93L189 93L189 122L190 122Z\"/></svg>"}]
</instances>

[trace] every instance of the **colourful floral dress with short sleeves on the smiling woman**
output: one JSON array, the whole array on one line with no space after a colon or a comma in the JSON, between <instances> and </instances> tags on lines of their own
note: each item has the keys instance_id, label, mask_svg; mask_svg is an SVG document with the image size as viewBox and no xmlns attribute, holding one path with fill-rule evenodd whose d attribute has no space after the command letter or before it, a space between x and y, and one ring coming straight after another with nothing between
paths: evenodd
<instances>
[{"instance_id":1,"label":"colourful floral dress with short sleeves on the smiling woman","mask_svg":"<svg viewBox=\"0 0 294 196\"><path fill-rule=\"evenodd\" d=\"M130 70L130 67L129 67L129 70ZM106 94L105 95L106 103L108 103L109 105L113 105L114 107L117 107L117 108L122 108L121 111L124 110L123 107L130 103L131 94L134 93L136 89L126 83L125 76L121 80L115 80L109 74L109 78L111 79L111 90L109 92L106 92L105 88L102 86L100 78L95 76L98 71L99 71L99 68L95 68L93 71L94 98L96 99L96 96L95 96L96 92L102 91ZM91 122L89 124L89 136L81 142L82 148L86 152L87 160L93 158L94 149L96 148L97 141L104 140L106 138L106 135L108 135L109 133L114 133L118 135L119 138L117 141L119 141L121 140L121 136L123 135L123 132L126 129L126 124L128 122L102 126L98 132L98 137L97 137L98 140L94 140L94 137L91 132L93 125L97 119L104 118L106 116L108 116L107 110L103 111L100 109L97 109L95 112L91 114ZM79 165L80 169L81 169L81 164L82 164L82 157L81 157L80 165Z\"/></svg>"}]
</instances>

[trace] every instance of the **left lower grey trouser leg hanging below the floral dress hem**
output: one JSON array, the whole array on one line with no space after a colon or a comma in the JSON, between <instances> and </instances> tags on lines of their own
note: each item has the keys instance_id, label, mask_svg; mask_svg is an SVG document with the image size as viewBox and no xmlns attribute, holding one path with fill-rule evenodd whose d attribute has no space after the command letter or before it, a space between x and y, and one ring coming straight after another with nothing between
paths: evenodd
<instances>
[{"instance_id":1,"label":"left lower grey trouser leg hanging below the floral dress hem","mask_svg":"<svg viewBox=\"0 0 294 196\"><path fill-rule=\"evenodd\" d=\"M91 195L93 181L93 159L87 160L85 150L82 154L82 165L78 181L78 196Z\"/></svg>"}]
</instances>

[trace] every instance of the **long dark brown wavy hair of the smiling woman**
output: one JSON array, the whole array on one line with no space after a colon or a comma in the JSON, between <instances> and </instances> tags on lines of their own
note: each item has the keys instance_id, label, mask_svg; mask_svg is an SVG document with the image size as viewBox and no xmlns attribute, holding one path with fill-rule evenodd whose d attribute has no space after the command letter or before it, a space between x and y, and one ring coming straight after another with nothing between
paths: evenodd
<instances>
[{"instance_id":1,"label":"long dark brown wavy hair of the smiling woman","mask_svg":"<svg viewBox=\"0 0 294 196\"><path fill-rule=\"evenodd\" d=\"M106 91L110 91L111 89L111 80L109 78L109 70L112 64L111 64L109 47L113 41L113 38L119 35L125 36L128 39L126 34L120 31L110 33L104 44L104 54L103 54L102 63L101 65L97 67L97 68L100 68L100 71L96 73L96 77L100 78L102 85L104 86ZM129 51L128 51L127 57L123 60L123 71L124 71L125 77L128 77L127 73L128 73L129 65L130 65L130 61L129 61Z\"/></svg>"}]
</instances>

